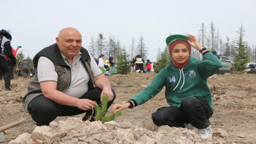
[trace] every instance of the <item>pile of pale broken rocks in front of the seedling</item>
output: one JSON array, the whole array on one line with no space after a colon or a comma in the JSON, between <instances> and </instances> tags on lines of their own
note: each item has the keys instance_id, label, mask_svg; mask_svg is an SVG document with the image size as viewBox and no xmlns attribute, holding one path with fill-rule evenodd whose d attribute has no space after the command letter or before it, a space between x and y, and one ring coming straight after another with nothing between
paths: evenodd
<instances>
[{"instance_id":1,"label":"pile of pale broken rocks in front of the seedling","mask_svg":"<svg viewBox=\"0 0 256 144\"><path fill-rule=\"evenodd\" d=\"M216 144L219 140L200 138L194 130L160 126L155 131L128 122L83 122L82 118L37 126L32 134L24 133L9 144ZM225 143L225 142L224 142Z\"/></svg>"}]
</instances>

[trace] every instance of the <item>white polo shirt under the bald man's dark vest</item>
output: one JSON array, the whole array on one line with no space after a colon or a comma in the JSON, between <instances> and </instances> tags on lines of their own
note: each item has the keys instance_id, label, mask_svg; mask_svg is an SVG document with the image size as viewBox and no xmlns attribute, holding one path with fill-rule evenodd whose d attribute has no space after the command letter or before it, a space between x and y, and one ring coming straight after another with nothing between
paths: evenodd
<instances>
[{"instance_id":1,"label":"white polo shirt under the bald man's dark vest","mask_svg":"<svg viewBox=\"0 0 256 144\"><path fill-rule=\"evenodd\" d=\"M90 64L93 72L93 77L99 76L100 74L102 74L102 71L98 68L95 60L90 53L89 55L91 58ZM76 56L74 56L73 58L72 65L70 65L68 58L62 55L63 60L71 68L71 83L68 90L66 90L66 92L64 93L70 96L74 96L76 98L80 98L88 91L88 82L90 80L90 76L80 60L81 56L81 52L78 52L78 54L76 54ZM55 71L53 62L46 57L41 56L39 58L37 71L39 83L45 81L57 82L58 80L58 75Z\"/></svg>"}]
</instances>

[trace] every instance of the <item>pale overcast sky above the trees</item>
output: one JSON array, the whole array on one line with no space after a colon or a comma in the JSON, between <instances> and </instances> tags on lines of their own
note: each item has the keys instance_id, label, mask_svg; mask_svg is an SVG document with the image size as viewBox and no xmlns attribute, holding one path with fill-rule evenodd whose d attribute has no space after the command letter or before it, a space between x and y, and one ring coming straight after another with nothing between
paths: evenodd
<instances>
[{"instance_id":1,"label":"pale overcast sky above the trees","mask_svg":"<svg viewBox=\"0 0 256 144\"><path fill-rule=\"evenodd\" d=\"M213 22L222 41L237 38L242 24L250 46L256 46L255 0L0 0L0 28L9 27L13 48L22 46L25 56L56 43L58 32L74 27L82 34L82 46L90 37L111 34L130 48L132 37L143 35L147 58L156 61L158 47L166 46L169 34L198 36L202 23ZM18 51L19 52L19 51Z\"/></svg>"}]
</instances>

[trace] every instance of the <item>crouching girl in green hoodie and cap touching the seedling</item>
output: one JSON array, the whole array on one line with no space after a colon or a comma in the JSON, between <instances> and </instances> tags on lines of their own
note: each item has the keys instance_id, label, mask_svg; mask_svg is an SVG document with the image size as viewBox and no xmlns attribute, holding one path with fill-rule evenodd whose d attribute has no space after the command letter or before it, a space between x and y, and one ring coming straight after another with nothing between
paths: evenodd
<instances>
[{"instance_id":1,"label":"crouching girl in green hoodie and cap touching the seedling","mask_svg":"<svg viewBox=\"0 0 256 144\"><path fill-rule=\"evenodd\" d=\"M165 97L170 106L158 108L152 113L154 124L191 130L196 127L200 137L212 138L209 121L213 114L212 94L207 78L221 68L222 63L193 35L171 35L166 38L166 44L172 57L169 65L154 77L150 86L127 103L115 104L111 108L112 113L144 104L165 86ZM203 55L205 62L190 56L191 46Z\"/></svg>"}]
</instances>

